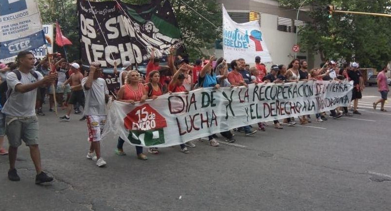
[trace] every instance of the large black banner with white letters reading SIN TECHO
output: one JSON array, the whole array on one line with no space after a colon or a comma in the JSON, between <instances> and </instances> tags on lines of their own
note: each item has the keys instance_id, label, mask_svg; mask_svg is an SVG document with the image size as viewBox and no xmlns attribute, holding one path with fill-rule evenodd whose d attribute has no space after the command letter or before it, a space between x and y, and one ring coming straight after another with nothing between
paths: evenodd
<instances>
[{"instance_id":1,"label":"large black banner with white letters reading SIN TECHO","mask_svg":"<svg viewBox=\"0 0 391 211\"><path fill-rule=\"evenodd\" d=\"M170 48L183 51L181 33L170 2L130 5L119 1L78 0L80 54L85 65L99 62L113 67L114 61L146 65L155 48L155 58L166 62Z\"/></svg>"}]
</instances>

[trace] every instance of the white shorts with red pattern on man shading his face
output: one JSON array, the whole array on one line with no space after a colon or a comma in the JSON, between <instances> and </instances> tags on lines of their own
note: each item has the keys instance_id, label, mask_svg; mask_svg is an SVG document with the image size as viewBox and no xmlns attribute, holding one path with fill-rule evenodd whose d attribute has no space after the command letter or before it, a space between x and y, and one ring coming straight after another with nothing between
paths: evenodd
<instances>
[{"instance_id":1,"label":"white shorts with red pattern on man shading his face","mask_svg":"<svg viewBox=\"0 0 391 211\"><path fill-rule=\"evenodd\" d=\"M96 142L102 141L101 133L104 124L106 123L106 116L89 115L87 116L88 127L88 141Z\"/></svg>"}]
</instances>

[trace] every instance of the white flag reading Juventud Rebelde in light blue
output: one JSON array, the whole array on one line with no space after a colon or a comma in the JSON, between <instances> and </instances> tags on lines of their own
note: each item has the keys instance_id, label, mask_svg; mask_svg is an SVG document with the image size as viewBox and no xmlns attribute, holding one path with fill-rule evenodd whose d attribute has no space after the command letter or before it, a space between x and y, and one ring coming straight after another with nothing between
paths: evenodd
<instances>
[{"instance_id":1,"label":"white flag reading Juventud Rebelde in light blue","mask_svg":"<svg viewBox=\"0 0 391 211\"><path fill-rule=\"evenodd\" d=\"M222 13L223 52L227 61L244 58L247 62L253 62L256 56L260 56L263 63L272 62L258 21L236 23L224 6Z\"/></svg>"}]
</instances>

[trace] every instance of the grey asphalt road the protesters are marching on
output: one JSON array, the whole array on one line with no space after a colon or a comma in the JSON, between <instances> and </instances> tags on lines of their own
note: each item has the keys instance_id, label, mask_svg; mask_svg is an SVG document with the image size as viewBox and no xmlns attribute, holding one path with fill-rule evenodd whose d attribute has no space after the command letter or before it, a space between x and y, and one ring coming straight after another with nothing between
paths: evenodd
<instances>
[{"instance_id":1,"label":"grey asphalt road the protesters are marching on","mask_svg":"<svg viewBox=\"0 0 391 211\"><path fill-rule=\"evenodd\" d=\"M140 161L126 144L127 156L119 157L113 137L102 146L105 168L85 158L89 145L81 116L60 122L46 108L39 117L40 147L44 169L55 181L34 184L26 146L19 148L20 182L7 179L8 157L0 156L0 210L391 210L391 106L388 113L371 108L379 97L375 87L364 95L362 115L283 130L269 123L254 137L237 133L235 144L196 142L190 154L168 147Z\"/></svg>"}]
</instances>

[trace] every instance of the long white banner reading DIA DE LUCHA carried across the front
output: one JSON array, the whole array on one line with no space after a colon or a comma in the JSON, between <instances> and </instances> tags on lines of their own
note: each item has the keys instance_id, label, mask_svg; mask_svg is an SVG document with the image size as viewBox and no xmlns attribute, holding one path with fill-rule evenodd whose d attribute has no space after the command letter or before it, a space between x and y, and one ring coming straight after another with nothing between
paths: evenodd
<instances>
[{"instance_id":1,"label":"long white banner reading DIA DE LUCHA carried across the front","mask_svg":"<svg viewBox=\"0 0 391 211\"><path fill-rule=\"evenodd\" d=\"M132 145L165 147L258 122L348 106L353 83L308 81L204 88L143 104L112 102L108 130Z\"/></svg>"}]
</instances>

